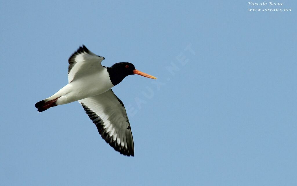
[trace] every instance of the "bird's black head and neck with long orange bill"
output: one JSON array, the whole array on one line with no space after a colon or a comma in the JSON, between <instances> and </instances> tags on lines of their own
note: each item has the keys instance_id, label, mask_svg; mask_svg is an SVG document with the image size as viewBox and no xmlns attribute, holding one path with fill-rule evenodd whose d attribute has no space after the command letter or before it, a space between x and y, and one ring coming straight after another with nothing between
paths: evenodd
<instances>
[{"instance_id":1,"label":"bird's black head and neck with long orange bill","mask_svg":"<svg viewBox=\"0 0 297 186\"><path fill-rule=\"evenodd\" d=\"M148 75L146 73L136 70L132 63L121 62L113 64L110 68L107 67L109 73L110 81L113 85L117 85L123 81L128 75L138 74L147 78L157 79L154 76Z\"/></svg>"}]
</instances>

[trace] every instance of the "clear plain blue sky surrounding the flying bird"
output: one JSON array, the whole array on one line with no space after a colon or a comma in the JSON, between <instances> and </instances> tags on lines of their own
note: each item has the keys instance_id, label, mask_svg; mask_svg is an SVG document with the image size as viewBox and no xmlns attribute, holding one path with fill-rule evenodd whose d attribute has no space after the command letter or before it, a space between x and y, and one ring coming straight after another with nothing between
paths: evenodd
<instances>
[{"instance_id":1,"label":"clear plain blue sky surrounding the flying bird","mask_svg":"<svg viewBox=\"0 0 297 186\"><path fill-rule=\"evenodd\" d=\"M256 1L255 1L256 2ZM2 1L0 185L296 185L296 1ZM135 157L79 103L38 113L79 45L158 80L113 88Z\"/></svg>"}]
</instances>

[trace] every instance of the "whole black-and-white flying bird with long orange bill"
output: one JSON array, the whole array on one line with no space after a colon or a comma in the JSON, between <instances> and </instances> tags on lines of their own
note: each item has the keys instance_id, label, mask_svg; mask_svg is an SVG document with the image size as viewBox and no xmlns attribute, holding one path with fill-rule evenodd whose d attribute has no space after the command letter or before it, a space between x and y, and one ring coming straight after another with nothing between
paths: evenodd
<instances>
[{"instance_id":1,"label":"whole black-and-white flying bird with long orange bill","mask_svg":"<svg viewBox=\"0 0 297 186\"><path fill-rule=\"evenodd\" d=\"M96 125L101 137L116 151L134 156L134 142L123 102L112 87L128 75L154 76L136 70L132 63L121 62L111 67L101 65L105 58L80 46L68 59L68 84L52 96L37 102L38 112L78 101Z\"/></svg>"}]
</instances>

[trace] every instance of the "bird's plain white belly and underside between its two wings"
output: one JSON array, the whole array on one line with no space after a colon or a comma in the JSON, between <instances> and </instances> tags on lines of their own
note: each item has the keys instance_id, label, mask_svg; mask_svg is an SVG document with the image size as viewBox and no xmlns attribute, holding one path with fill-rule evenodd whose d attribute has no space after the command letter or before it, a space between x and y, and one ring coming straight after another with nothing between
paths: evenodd
<instances>
[{"instance_id":1,"label":"bird's plain white belly and underside between its two wings","mask_svg":"<svg viewBox=\"0 0 297 186\"><path fill-rule=\"evenodd\" d=\"M59 94L61 95L56 104L67 104L87 97L102 94L112 87L113 84L110 81L109 74L107 70L104 69L100 73L81 77L64 86L56 93L57 97Z\"/></svg>"}]
</instances>

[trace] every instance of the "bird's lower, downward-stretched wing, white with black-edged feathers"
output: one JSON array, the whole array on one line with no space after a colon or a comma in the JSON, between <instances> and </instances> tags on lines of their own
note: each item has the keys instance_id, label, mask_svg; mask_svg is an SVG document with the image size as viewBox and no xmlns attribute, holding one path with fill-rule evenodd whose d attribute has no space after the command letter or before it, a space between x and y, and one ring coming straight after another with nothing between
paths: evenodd
<instances>
[{"instance_id":1,"label":"bird's lower, downward-stretched wing, white with black-edged feathers","mask_svg":"<svg viewBox=\"0 0 297 186\"><path fill-rule=\"evenodd\" d=\"M110 146L121 154L134 156L133 136L126 110L111 89L79 102Z\"/></svg>"}]
</instances>

